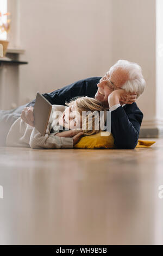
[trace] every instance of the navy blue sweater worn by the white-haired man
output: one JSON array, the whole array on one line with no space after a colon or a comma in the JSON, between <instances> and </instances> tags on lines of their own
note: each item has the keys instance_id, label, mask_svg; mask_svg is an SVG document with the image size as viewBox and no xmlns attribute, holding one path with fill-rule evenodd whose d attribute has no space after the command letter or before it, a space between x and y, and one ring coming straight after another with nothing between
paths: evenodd
<instances>
[{"instance_id":1,"label":"navy blue sweater worn by the white-haired man","mask_svg":"<svg viewBox=\"0 0 163 256\"><path fill-rule=\"evenodd\" d=\"M90 77L85 80L74 82L64 88L55 90L52 93L45 93L43 96L56 105L65 105L66 101L76 96L95 97L97 83L101 77ZM28 106L34 106L35 100ZM120 149L134 149L139 138L139 131L143 114L136 103L120 106L111 112L111 133L114 136L114 143Z\"/></svg>"}]
</instances>

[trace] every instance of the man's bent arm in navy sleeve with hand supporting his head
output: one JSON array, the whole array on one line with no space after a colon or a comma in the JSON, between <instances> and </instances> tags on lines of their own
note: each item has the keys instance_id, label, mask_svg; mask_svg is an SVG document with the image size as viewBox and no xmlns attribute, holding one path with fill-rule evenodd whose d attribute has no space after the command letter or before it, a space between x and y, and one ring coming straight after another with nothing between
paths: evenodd
<instances>
[{"instance_id":1,"label":"man's bent arm in navy sleeve with hand supporting his head","mask_svg":"<svg viewBox=\"0 0 163 256\"><path fill-rule=\"evenodd\" d=\"M122 100L127 104L124 107L125 110L120 105ZM135 93L126 93L123 89L115 90L108 97L110 111L112 110L111 132L117 148L134 149L136 147L143 114L136 103L133 103L135 100Z\"/></svg>"}]
</instances>

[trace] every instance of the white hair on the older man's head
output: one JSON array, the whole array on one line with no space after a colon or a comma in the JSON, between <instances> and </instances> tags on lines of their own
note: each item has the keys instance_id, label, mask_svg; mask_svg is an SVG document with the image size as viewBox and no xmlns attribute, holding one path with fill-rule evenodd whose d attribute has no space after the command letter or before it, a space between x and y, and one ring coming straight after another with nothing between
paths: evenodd
<instances>
[{"instance_id":1,"label":"white hair on the older man's head","mask_svg":"<svg viewBox=\"0 0 163 256\"><path fill-rule=\"evenodd\" d=\"M133 62L128 62L128 60L118 60L118 62L110 68L109 75L118 68L127 70L129 75L129 80L122 85L122 88L126 90L126 92L136 92L137 97L139 97L146 86L146 81L142 76L141 66Z\"/></svg>"}]
</instances>

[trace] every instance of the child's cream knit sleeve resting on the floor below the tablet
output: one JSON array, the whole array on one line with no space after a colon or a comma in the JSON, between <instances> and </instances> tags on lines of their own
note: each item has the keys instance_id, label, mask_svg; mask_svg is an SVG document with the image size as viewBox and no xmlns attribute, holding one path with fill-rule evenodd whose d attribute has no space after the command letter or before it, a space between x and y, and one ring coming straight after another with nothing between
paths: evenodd
<instances>
[{"instance_id":1,"label":"child's cream knit sleeve resting on the floor below the tablet","mask_svg":"<svg viewBox=\"0 0 163 256\"><path fill-rule=\"evenodd\" d=\"M48 123L45 136L42 136L39 131L34 127L29 140L30 148L32 149L60 149L60 148L73 148L73 139L55 136L55 133L50 133Z\"/></svg>"}]
</instances>

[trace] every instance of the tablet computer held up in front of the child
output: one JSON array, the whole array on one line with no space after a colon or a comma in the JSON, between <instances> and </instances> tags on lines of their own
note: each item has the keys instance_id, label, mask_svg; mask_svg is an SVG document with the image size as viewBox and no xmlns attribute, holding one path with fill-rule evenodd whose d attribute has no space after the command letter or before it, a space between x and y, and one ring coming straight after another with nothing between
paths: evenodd
<instances>
[{"instance_id":1,"label":"tablet computer held up in front of the child","mask_svg":"<svg viewBox=\"0 0 163 256\"><path fill-rule=\"evenodd\" d=\"M52 111L52 104L37 92L35 105L33 109L34 127L45 136L49 117Z\"/></svg>"}]
</instances>

